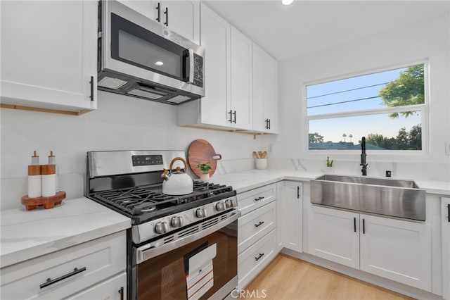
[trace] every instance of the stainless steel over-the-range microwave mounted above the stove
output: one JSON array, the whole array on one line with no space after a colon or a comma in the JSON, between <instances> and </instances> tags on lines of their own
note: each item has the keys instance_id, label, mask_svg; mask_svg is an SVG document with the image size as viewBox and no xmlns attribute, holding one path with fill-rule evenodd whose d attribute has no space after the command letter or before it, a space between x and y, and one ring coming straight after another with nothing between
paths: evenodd
<instances>
[{"instance_id":1,"label":"stainless steel over-the-range microwave mounted above the stove","mask_svg":"<svg viewBox=\"0 0 450 300\"><path fill-rule=\"evenodd\" d=\"M98 89L167 104L205 96L203 47L115 0L98 5Z\"/></svg>"}]
</instances>

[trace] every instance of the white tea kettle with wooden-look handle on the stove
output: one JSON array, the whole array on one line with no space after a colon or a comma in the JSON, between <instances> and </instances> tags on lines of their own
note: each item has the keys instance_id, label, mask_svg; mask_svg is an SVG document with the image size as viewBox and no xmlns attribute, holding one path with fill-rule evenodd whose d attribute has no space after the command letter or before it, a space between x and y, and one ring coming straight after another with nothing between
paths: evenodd
<instances>
[{"instance_id":1,"label":"white tea kettle with wooden-look handle on the stove","mask_svg":"<svg viewBox=\"0 0 450 300\"><path fill-rule=\"evenodd\" d=\"M176 167L176 172L172 173L172 167L175 161L182 161L184 163L184 172L181 172L180 167ZM184 158L176 157L170 162L169 170L164 169L161 177L164 179L162 182L162 194L167 195L186 195L193 192L193 181L191 176L186 174L187 164Z\"/></svg>"}]
</instances>

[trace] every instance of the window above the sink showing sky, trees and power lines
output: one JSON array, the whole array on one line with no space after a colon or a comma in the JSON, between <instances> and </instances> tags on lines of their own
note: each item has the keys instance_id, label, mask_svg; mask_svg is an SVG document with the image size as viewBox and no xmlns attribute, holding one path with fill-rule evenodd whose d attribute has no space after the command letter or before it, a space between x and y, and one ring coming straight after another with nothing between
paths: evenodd
<instances>
[{"instance_id":1,"label":"window above the sink showing sky, trees and power lines","mask_svg":"<svg viewBox=\"0 0 450 300\"><path fill-rule=\"evenodd\" d=\"M425 65L306 86L309 150L420 151Z\"/></svg>"}]
</instances>

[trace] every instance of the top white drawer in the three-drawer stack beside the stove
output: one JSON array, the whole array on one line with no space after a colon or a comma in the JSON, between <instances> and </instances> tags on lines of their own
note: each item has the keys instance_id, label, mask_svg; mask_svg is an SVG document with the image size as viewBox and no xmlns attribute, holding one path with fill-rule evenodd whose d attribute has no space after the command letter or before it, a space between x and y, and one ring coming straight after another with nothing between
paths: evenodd
<instances>
[{"instance_id":1,"label":"top white drawer in the three-drawer stack beside the stove","mask_svg":"<svg viewBox=\"0 0 450 300\"><path fill-rule=\"evenodd\" d=\"M276 184L266 185L238 194L238 208L242 215L254 211L276 199Z\"/></svg>"}]
</instances>

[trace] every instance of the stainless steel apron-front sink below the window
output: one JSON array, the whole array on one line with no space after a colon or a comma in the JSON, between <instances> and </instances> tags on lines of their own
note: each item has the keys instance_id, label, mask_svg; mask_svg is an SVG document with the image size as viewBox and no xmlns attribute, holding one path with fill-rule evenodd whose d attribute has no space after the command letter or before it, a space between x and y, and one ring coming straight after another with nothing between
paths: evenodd
<instances>
[{"instance_id":1,"label":"stainless steel apron-front sink below the window","mask_svg":"<svg viewBox=\"0 0 450 300\"><path fill-rule=\"evenodd\" d=\"M425 190L413 180L323 175L311 180L311 202L425 221Z\"/></svg>"}]
</instances>

